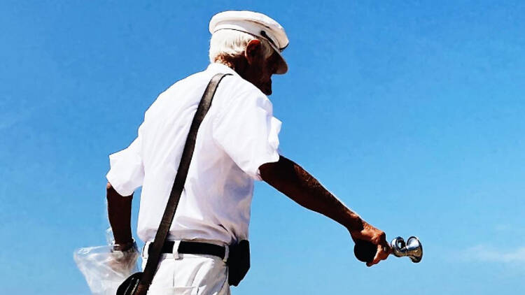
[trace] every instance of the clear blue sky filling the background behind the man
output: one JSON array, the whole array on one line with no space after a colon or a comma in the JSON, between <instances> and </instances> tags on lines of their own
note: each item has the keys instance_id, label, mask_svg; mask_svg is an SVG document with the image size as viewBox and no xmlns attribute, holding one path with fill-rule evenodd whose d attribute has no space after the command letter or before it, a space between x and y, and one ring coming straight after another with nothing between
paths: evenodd
<instances>
[{"instance_id":1,"label":"clear blue sky filling the background behind the man","mask_svg":"<svg viewBox=\"0 0 525 295\"><path fill-rule=\"evenodd\" d=\"M523 1L1 1L4 294L89 294L72 253L104 244L107 156L205 69L228 9L290 39L270 96L283 154L425 250L366 268L342 226L258 183L233 294L524 292Z\"/></svg>"}]
</instances>

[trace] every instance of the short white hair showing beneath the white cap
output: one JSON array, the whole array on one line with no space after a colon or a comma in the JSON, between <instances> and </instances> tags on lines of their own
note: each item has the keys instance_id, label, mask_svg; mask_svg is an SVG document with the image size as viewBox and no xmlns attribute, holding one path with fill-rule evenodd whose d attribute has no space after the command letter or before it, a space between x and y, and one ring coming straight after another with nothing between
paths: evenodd
<instances>
[{"instance_id":1,"label":"short white hair showing beneath the white cap","mask_svg":"<svg viewBox=\"0 0 525 295\"><path fill-rule=\"evenodd\" d=\"M228 59L244 55L246 45L254 39L260 41L262 45L262 56L265 59L273 54L274 49L263 38L258 38L244 31L221 29L211 35L209 42L209 61L211 63L225 62Z\"/></svg>"}]
</instances>

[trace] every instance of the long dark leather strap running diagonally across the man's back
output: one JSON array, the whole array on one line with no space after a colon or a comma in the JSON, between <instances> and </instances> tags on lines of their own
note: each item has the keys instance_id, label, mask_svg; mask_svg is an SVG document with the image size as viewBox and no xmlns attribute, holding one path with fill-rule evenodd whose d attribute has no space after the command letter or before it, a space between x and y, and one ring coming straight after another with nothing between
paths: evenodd
<instances>
[{"instance_id":1,"label":"long dark leather strap running diagonally across the man's back","mask_svg":"<svg viewBox=\"0 0 525 295\"><path fill-rule=\"evenodd\" d=\"M146 262L146 267L144 268L144 273L142 274L140 285L143 285L146 287L146 289L149 287L149 285L151 285L153 275L155 275L155 271L157 270L157 266L160 261L162 245L164 245L166 237L168 236L169 227L172 226L175 210L179 205L179 200L181 199L184 183L186 182L186 176L188 175L188 169L190 168L190 162L193 156L193 150L195 148L197 131L199 130L200 123L204 119L204 116L211 106L211 101L214 99L217 86L225 75L231 74L218 73L214 75L213 78L211 78L208 86L206 87L206 90L204 91L204 94L202 95L199 106L197 107L195 117L193 117L193 122L191 123L188 138L186 138L186 145L184 145L181 163L179 164L179 169L177 170L172 192L169 194L166 210L164 211L164 215L162 215L162 220L155 235L155 240L153 240L153 243L150 245L150 254L148 256L148 261Z\"/></svg>"}]
</instances>

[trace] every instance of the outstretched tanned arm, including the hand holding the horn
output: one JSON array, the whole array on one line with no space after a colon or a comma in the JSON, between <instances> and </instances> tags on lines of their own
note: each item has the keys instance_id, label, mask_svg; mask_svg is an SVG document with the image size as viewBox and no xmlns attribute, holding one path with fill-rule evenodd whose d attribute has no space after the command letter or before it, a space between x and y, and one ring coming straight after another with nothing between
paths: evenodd
<instances>
[{"instance_id":1,"label":"outstretched tanned arm, including the hand holding the horn","mask_svg":"<svg viewBox=\"0 0 525 295\"><path fill-rule=\"evenodd\" d=\"M300 206L321 213L342 224L348 229L353 240L365 240L377 245L376 255L373 261L367 263L367 266L377 264L388 257L391 249L386 242L385 233L346 208L301 166L281 156L277 162L260 166L259 171L262 180Z\"/></svg>"}]
</instances>

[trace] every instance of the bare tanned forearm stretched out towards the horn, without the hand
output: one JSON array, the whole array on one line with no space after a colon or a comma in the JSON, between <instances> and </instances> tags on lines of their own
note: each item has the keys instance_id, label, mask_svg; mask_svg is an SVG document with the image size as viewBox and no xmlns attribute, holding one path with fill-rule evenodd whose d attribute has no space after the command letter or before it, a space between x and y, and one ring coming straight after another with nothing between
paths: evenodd
<instances>
[{"instance_id":1,"label":"bare tanned forearm stretched out towards the horn, without the hand","mask_svg":"<svg viewBox=\"0 0 525 295\"><path fill-rule=\"evenodd\" d=\"M286 157L276 163L260 167L262 180L275 187L304 208L321 213L349 231L363 229L363 220L346 208L339 199L328 192L312 175Z\"/></svg>"}]
</instances>

